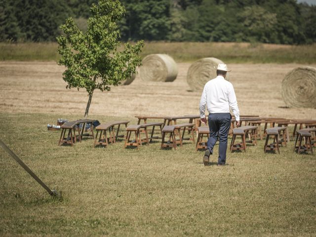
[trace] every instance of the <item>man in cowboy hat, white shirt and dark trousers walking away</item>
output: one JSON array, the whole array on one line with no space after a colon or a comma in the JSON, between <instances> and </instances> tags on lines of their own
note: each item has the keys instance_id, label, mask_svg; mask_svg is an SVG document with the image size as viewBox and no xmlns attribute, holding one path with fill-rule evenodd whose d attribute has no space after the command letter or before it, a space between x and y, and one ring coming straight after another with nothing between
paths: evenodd
<instances>
[{"instance_id":1,"label":"man in cowboy hat, white shirt and dark trousers walking away","mask_svg":"<svg viewBox=\"0 0 316 237\"><path fill-rule=\"evenodd\" d=\"M218 165L225 165L227 137L231 125L230 108L232 109L237 126L239 126L239 110L234 87L231 82L225 80L227 70L226 64L218 64L216 69L217 77L206 82L201 100L199 102L199 114L201 121L206 124L205 105L207 105L209 139L203 157L204 165L208 165L209 156L213 154L213 148L219 139Z\"/></svg>"}]
</instances>

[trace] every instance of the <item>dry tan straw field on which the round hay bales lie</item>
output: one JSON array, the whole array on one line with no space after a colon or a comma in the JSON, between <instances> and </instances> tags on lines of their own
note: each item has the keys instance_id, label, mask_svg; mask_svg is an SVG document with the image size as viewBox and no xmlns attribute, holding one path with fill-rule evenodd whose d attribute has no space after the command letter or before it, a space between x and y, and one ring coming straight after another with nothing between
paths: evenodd
<instances>
[{"instance_id":1,"label":"dry tan straw field on which the round hay bales lie","mask_svg":"<svg viewBox=\"0 0 316 237\"><path fill-rule=\"evenodd\" d=\"M186 75L190 63L178 63L173 82L136 79L111 92L96 91L90 117L136 115L182 116L198 114L201 91L190 91ZM301 64L229 64L230 81L240 114L280 118L316 118L315 109L284 108L281 82ZM315 67L316 65L309 65ZM87 102L84 90L67 90L63 68L55 62L0 62L0 110L8 113L82 114Z\"/></svg>"}]
</instances>

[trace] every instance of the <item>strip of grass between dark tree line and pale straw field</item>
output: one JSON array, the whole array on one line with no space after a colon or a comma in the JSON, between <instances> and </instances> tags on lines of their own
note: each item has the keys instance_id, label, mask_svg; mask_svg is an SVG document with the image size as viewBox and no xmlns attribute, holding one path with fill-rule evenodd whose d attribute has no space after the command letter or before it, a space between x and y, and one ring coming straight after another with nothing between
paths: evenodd
<instances>
[{"instance_id":1,"label":"strip of grass between dark tree line and pale straw field","mask_svg":"<svg viewBox=\"0 0 316 237\"><path fill-rule=\"evenodd\" d=\"M0 61L56 61L57 43L0 43ZM215 57L225 63L316 63L316 45L262 43L146 42L142 56L166 53L176 62Z\"/></svg>"}]
</instances>

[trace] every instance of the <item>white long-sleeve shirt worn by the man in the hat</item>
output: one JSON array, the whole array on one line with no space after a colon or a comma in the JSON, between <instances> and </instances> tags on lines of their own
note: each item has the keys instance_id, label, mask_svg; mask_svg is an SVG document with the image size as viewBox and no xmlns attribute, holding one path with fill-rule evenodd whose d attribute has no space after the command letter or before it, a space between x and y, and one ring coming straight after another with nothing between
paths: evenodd
<instances>
[{"instance_id":1,"label":"white long-sleeve shirt worn by the man in the hat","mask_svg":"<svg viewBox=\"0 0 316 237\"><path fill-rule=\"evenodd\" d=\"M205 104L209 114L230 113L230 108L239 121L239 109L233 84L217 76L206 82L199 102L200 118L205 118Z\"/></svg>"}]
</instances>

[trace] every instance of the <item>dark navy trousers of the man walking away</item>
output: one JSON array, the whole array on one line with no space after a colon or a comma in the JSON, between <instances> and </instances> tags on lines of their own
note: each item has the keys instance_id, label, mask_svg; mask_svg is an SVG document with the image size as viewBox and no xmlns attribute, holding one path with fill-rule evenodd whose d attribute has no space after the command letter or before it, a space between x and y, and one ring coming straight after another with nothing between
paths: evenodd
<instances>
[{"instance_id":1,"label":"dark navy trousers of the man walking away","mask_svg":"<svg viewBox=\"0 0 316 237\"><path fill-rule=\"evenodd\" d=\"M227 151L227 137L231 126L230 113L218 113L208 115L209 139L207 148L213 153L213 148L219 140L218 163L225 164Z\"/></svg>"}]
</instances>

